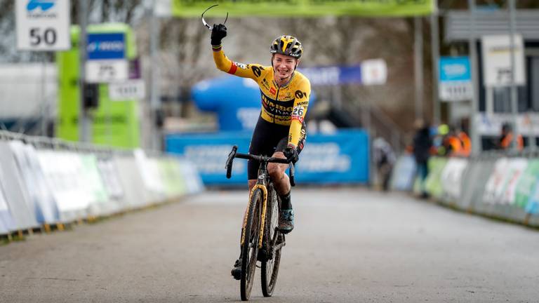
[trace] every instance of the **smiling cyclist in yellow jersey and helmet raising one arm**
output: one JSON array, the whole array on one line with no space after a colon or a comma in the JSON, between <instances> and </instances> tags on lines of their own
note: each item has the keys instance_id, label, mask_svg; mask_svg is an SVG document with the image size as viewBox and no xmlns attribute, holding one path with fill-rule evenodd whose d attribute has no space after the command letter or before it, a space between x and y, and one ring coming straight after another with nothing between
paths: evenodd
<instances>
[{"instance_id":1,"label":"smiling cyclist in yellow jersey and helmet raising one arm","mask_svg":"<svg viewBox=\"0 0 539 303\"><path fill-rule=\"evenodd\" d=\"M295 70L303 53L300 41L293 36L279 36L270 47L271 66L244 65L229 60L223 53L221 41L225 36L225 25L213 25L211 46L215 65L223 72L251 78L260 86L262 109L253 131L249 153L286 158L295 163L305 144L307 133L304 119L311 94L309 80ZM258 166L257 161L249 160L247 163L249 191L256 184ZM269 163L267 166L281 198L279 229L284 234L294 228L291 186L286 168L288 164ZM239 280L240 275L241 255L232 269L234 278Z\"/></svg>"}]
</instances>

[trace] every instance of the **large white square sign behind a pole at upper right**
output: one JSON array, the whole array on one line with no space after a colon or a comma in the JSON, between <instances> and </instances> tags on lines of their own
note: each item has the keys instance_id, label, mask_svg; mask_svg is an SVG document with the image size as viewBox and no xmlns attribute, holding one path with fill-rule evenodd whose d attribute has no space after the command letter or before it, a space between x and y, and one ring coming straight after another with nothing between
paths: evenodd
<instances>
[{"instance_id":1,"label":"large white square sign behind a pole at upper right","mask_svg":"<svg viewBox=\"0 0 539 303\"><path fill-rule=\"evenodd\" d=\"M526 84L524 72L524 43L522 36L514 35L514 83ZM483 36L484 85L488 87L511 85L511 43L509 35Z\"/></svg>"}]
</instances>

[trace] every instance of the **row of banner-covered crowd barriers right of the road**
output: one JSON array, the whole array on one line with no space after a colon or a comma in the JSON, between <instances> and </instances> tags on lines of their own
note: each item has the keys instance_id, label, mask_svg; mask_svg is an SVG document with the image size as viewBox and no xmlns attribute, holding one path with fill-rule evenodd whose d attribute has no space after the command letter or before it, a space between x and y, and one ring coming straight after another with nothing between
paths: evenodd
<instances>
[{"instance_id":1,"label":"row of banner-covered crowd barriers right of the road","mask_svg":"<svg viewBox=\"0 0 539 303\"><path fill-rule=\"evenodd\" d=\"M539 227L539 155L488 152L473 158L432 157L425 180L439 203L487 217ZM420 194L413 156L401 156L392 189Z\"/></svg>"}]
</instances>

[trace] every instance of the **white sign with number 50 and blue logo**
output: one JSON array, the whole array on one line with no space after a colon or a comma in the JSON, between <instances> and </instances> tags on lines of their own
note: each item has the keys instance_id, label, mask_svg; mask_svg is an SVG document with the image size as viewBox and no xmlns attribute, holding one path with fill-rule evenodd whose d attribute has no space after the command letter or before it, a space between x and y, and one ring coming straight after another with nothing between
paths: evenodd
<instances>
[{"instance_id":1,"label":"white sign with number 50 and blue logo","mask_svg":"<svg viewBox=\"0 0 539 303\"><path fill-rule=\"evenodd\" d=\"M17 48L20 50L67 50L69 0L15 0Z\"/></svg>"}]
</instances>

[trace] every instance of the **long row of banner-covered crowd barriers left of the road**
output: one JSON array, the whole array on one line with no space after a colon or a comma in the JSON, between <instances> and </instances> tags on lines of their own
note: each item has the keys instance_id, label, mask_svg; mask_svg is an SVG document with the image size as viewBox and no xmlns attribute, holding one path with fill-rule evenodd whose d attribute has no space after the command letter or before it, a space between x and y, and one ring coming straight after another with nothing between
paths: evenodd
<instances>
[{"instance_id":1,"label":"long row of banner-covered crowd barriers left of the road","mask_svg":"<svg viewBox=\"0 0 539 303\"><path fill-rule=\"evenodd\" d=\"M0 235L106 217L204 189L187 159L0 131Z\"/></svg>"}]
</instances>

